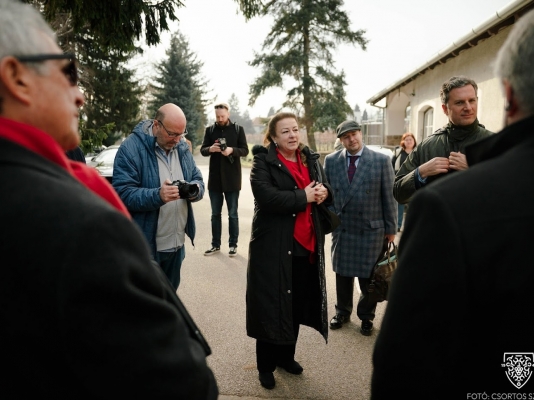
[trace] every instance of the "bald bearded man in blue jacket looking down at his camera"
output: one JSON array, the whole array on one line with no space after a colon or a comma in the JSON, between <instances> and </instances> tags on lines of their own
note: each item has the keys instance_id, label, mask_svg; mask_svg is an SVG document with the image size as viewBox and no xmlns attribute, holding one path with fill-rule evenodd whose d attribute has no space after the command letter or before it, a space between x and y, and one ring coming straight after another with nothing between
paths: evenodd
<instances>
[{"instance_id":1,"label":"bald bearded man in blue jacket looking down at his camera","mask_svg":"<svg viewBox=\"0 0 534 400\"><path fill-rule=\"evenodd\" d=\"M165 104L153 120L137 124L121 144L113 166L113 187L176 289L186 234L194 246L191 203L204 196L202 173L184 139L186 123L180 107ZM190 184L188 193L179 190L175 181Z\"/></svg>"}]
</instances>

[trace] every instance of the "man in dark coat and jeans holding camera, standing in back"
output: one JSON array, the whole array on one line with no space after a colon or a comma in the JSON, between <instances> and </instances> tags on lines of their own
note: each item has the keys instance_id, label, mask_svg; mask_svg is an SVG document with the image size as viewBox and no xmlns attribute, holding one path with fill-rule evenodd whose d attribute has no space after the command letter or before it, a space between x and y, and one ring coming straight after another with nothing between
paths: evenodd
<instances>
[{"instance_id":1,"label":"man in dark coat and jeans holding camera, standing in back","mask_svg":"<svg viewBox=\"0 0 534 400\"><path fill-rule=\"evenodd\" d=\"M230 107L226 103L215 105L216 122L206 128L200 153L210 158L208 193L211 202L211 248L205 256L221 249L221 212L224 199L228 208L228 231L230 237L228 255L237 254L239 218L237 214L241 191L241 157L248 154L247 138L242 126L230 121Z\"/></svg>"}]
</instances>

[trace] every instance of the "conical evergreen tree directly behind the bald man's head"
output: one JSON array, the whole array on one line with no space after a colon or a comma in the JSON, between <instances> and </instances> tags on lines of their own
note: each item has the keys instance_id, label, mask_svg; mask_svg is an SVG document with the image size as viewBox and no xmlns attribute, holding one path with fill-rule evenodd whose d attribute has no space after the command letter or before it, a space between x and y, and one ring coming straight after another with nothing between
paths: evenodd
<instances>
[{"instance_id":1,"label":"conical evergreen tree directly behind the bald man's head","mask_svg":"<svg viewBox=\"0 0 534 400\"><path fill-rule=\"evenodd\" d=\"M162 105L176 104L187 118L187 138L196 146L204 135L205 107L209 101L206 99L206 83L201 76L203 63L189 50L187 39L179 32L172 35L166 55L167 58L156 65L149 113L153 116Z\"/></svg>"}]
</instances>

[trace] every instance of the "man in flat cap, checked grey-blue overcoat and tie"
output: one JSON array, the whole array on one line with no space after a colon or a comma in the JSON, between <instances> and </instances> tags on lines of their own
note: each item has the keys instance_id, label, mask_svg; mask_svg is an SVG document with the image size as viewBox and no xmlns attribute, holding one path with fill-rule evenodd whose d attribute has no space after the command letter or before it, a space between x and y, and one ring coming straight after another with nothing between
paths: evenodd
<instances>
[{"instance_id":1,"label":"man in flat cap, checked grey-blue overcoat and tie","mask_svg":"<svg viewBox=\"0 0 534 400\"><path fill-rule=\"evenodd\" d=\"M336 133L343 149L326 156L324 162L334 193L333 211L341 219L332 232L336 314L330 321L330 329L339 329L350 321L354 278L358 278L361 293L356 314L361 320L360 333L369 336L377 303L369 298L365 288L384 241L395 239L395 176L388 156L365 147L356 121L342 122Z\"/></svg>"}]
</instances>

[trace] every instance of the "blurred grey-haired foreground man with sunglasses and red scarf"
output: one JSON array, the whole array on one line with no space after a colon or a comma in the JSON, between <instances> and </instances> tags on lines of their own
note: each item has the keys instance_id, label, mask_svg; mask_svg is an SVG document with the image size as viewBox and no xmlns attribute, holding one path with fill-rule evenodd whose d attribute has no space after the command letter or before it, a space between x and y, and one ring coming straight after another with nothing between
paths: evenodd
<instances>
[{"instance_id":1,"label":"blurred grey-haired foreground man with sunglasses and red scarf","mask_svg":"<svg viewBox=\"0 0 534 400\"><path fill-rule=\"evenodd\" d=\"M209 348L128 211L65 155L83 103L74 55L0 0L1 397L216 399Z\"/></svg>"}]
</instances>

